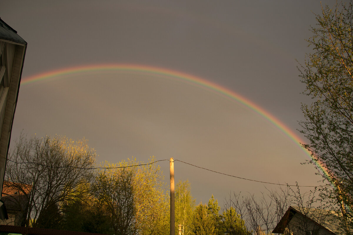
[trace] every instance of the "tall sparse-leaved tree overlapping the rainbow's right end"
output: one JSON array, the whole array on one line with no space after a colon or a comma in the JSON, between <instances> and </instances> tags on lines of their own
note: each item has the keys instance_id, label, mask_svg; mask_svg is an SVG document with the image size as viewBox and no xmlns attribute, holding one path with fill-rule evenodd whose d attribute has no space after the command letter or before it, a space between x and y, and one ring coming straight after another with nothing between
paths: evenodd
<instances>
[{"instance_id":1,"label":"tall sparse-leaved tree overlapping the rainbow's right end","mask_svg":"<svg viewBox=\"0 0 353 235\"><path fill-rule=\"evenodd\" d=\"M318 174L334 186L321 196L329 203L336 201L334 209L347 227L353 209L352 1L333 9L323 7L316 20L313 36L307 40L313 52L300 67L304 94L313 99L301 107L306 120L300 123L300 132L309 140L303 146L311 151L310 162L318 163Z\"/></svg>"}]
</instances>

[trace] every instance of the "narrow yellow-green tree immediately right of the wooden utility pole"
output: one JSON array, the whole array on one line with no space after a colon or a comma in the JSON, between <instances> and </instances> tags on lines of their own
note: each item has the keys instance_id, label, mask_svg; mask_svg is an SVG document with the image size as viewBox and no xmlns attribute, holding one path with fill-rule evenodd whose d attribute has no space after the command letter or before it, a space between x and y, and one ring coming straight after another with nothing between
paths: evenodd
<instances>
[{"instance_id":1,"label":"narrow yellow-green tree immediately right of the wooden utility pole","mask_svg":"<svg viewBox=\"0 0 353 235\"><path fill-rule=\"evenodd\" d=\"M190 234L192 229L191 215L195 208L195 199L191 196L189 181L179 181L175 187L175 228L178 234L179 224L181 235Z\"/></svg>"}]
</instances>

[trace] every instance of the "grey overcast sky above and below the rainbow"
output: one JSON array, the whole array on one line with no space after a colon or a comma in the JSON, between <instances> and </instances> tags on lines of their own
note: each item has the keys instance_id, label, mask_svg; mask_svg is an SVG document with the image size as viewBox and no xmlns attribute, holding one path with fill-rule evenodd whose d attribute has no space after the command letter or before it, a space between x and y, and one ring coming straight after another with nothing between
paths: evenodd
<instances>
[{"instance_id":1,"label":"grey overcast sky above and below the rainbow","mask_svg":"<svg viewBox=\"0 0 353 235\"><path fill-rule=\"evenodd\" d=\"M335 1L323 1L333 5ZM0 17L28 42L22 81L71 67L134 64L197 76L243 96L303 138L310 102L298 62L319 1L2 1ZM22 84L12 140L87 138L97 162L179 159L274 183L318 185L309 160L279 128L202 86L143 72L98 71ZM304 138L303 138L304 140ZM304 140L305 141L305 140ZM166 179L169 163L161 162ZM175 163L197 203L269 185Z\"/></svg>"}]
</instances>

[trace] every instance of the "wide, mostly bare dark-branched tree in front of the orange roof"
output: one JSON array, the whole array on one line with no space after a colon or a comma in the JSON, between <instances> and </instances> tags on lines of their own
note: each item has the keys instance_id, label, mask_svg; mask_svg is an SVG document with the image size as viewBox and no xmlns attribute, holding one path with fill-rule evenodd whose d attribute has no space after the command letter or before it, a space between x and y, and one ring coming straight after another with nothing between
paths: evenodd
<instances>
[{"instance_id":1,"label":"wide, mostly bare dark-branched tree in front of the orange roof","mask_svg":"<svg viewBox=\"0 0 353 235\"><path fill-rule=\"evenodd\" d=\"M22 225L52 227L61 205L85 193L79 186L89 181L95 156L85 139L21 135L9 151L4 186L26 195L26 202L18 202L27 204Z\"/></svg>"}]
</instances>

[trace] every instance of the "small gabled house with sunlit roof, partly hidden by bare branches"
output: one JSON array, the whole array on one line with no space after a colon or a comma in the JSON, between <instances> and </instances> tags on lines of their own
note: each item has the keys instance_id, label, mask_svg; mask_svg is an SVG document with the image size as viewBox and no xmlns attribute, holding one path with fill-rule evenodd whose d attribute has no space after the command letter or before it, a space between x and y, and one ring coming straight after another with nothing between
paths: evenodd
<instances>
[{"instance_id":1,"label":"small gabled house with sunlit roof, partly hidden by bare branches","mask_svg":"<svg viewBox=\"0 0 353 235\"><path fill-rule=\"evenodd\" d=\"M290 206L272 233L285 235L340 235L345 234L334 212Z\"/></svg>"}]
</instances>

